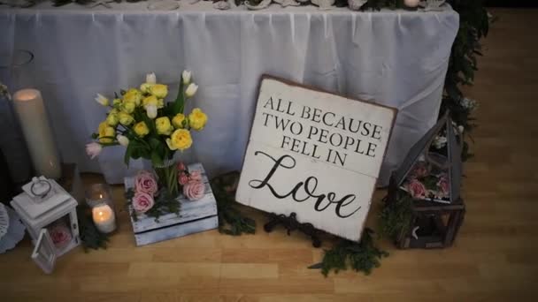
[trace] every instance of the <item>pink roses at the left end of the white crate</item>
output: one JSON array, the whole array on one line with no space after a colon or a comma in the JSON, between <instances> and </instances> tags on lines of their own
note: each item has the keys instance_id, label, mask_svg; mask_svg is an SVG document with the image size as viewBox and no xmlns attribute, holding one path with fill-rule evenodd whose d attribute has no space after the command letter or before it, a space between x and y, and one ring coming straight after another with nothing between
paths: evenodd
<instances>
[{"instance_id":1,"label":"pink roses at the left end of the white crate","mask_svg":"<svg viewBox=\"0 0 538 302\"><path fill-rule=\"evenodd\" d=\"M155 205L154 197L158 194L158 183L155 175L141 170L135 177L135 195L132 204L137 213L146 213Z\"/></svg>"}]
</instances>

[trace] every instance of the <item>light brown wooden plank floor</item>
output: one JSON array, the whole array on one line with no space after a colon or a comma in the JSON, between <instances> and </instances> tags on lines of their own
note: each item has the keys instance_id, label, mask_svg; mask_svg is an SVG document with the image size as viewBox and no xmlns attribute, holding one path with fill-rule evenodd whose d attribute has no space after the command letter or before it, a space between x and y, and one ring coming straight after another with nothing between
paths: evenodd
<instances>
[{"instance_id":1,"label":"light brown wooden plank floor","mask_svg":"<svg viewBox=\"0 0 538 302\"><path fill-rule=\"evenodd\" d=\"M27 239L0 255L0 301L538 301L538 11L494 13L468 91L480 101L480 128L454 247L399 251L384 241L391 255L372 276L324 278L306 268L321 251L300 235L214 230L137 248L123 212L108 250L73 251L52 276L30 260ZM115 193L122 201L121 187Z\"/></svg>"}]
</instances>

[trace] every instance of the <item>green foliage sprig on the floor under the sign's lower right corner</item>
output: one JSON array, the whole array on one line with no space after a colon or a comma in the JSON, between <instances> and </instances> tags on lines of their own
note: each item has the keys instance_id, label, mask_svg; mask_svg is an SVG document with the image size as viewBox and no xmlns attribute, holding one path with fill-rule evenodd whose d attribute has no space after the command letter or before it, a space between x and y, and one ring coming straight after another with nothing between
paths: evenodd
<instances>
[{"instance_id":1,"label":"green foliage sprig on the floor under the sign's lower right corner","mask_svg":"<svg viewBox=\"0 0 538 302\"><path fill-rule=\"evenodd\" d=\"M373 230L366 228L360 242L341 239L332 249L325 251L321 262L310 268L321 268L323 276L328 276L331 270L338 274L348 267L370 275L373 268L380 267L380 259L383 257L388 257L388 252L374 245Z\"/></svg>"}]
</instances>

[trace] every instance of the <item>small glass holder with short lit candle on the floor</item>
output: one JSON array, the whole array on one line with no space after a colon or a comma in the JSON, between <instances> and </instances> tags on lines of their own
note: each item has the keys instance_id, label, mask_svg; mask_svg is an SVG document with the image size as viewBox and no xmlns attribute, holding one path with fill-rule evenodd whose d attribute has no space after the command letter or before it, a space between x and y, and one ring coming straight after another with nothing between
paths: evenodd
<instances>
[{"instance_id":1,"label":"small glass holder with short lit candle on the floor","mask_svg":"<svg viewBox=\"0 0 538 302\"><path fill-rule=\"evenodd\" d=\"M109 234L118 229L111 187L93 184L86 190L86 203L91 208L92 219L97 230Z\"/></svg>"}]
</instances>

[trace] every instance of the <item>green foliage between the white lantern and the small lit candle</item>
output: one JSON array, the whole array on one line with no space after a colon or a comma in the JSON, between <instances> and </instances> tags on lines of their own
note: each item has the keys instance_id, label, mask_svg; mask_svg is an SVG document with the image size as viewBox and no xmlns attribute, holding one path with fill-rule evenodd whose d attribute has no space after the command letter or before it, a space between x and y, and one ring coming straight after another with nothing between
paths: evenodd
<instances>
[{"instance_id":1,"label":"green foliage between the white lantern and the small lit candle","mask_svg":"<svg viewBox=\"0 0 538 302\"><path fill-rule=\"evenodd\" d=\"M97 230L92 218L91 208L85 204L78 206L77 217L79 218L79 231L84 252L88 253L90 248L94 250L99 248L106 249L109 235Z\"/></svg>"}]
</instances>

